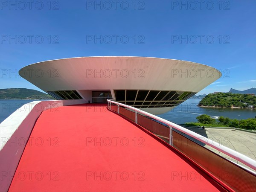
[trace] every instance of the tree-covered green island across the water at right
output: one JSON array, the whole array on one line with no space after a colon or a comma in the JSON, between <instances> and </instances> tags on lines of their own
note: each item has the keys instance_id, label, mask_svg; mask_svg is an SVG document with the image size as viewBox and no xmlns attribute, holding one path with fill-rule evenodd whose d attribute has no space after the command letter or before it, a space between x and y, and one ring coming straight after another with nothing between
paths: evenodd
<instances>
[{"instance_id":1,"label":"tree-covered green island across the water at right","mask_svg":"<svg viewBox=\"0 0 256 192\"><path fill-rule=\"evenodd\" d=\"M210 93L205 96L198 106L207 107L239 107L256 108L256 96L238 93Z\"/></svg>"}]
</instances>

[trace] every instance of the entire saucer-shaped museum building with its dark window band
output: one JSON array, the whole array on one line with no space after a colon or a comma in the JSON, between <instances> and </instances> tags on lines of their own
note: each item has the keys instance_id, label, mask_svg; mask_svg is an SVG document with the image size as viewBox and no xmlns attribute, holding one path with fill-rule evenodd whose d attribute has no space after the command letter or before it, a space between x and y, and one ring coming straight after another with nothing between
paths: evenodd
<instances>
[{"instance_id":1,"label":"entire saucer-shaped museum building with its dark window band","mask_svg":"<svg viewBox=\"0 0 256 192\"><path fill-rule=\"evenodd\" d=\"M169 111L221 77L203 64L129 56L44 61L23 67L19 74L57 99L70 99L72 94L73 99L99 102L97 97L112 96L154 114ZM102 93L97 96L96 91Z\"/></svg>"}]
</instances>

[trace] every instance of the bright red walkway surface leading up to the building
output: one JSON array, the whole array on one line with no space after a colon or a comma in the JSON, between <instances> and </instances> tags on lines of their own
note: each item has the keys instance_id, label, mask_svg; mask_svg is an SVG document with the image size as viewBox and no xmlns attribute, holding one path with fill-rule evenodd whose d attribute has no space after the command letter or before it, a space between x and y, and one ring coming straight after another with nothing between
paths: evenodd
<instances>
[{"instance_id":1,"label":"bright red walkway surface leading up to the building","mask_svg":"<svg viewBox=\"0 0 256 192\"><path fill-rule=\"evenodd\" d=\"M210 177L106 106L44 111L9 191L219 191Z\"/></svg>"}]
</instances>

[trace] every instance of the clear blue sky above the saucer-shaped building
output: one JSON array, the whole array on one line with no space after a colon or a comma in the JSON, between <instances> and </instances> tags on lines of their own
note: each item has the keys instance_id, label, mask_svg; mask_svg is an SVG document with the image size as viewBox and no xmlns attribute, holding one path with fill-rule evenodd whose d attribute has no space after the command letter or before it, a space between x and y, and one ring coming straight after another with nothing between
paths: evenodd
<instances>
[{"instance_id":1,"label":"clear blue sky above the saucer-shaped building","mask_svg":"<svg viewBox=\"0 0 256 192\"><path fill-rule=\"evenodd\" d=\"M172 58L221 70L199 94L256 87L254 0L0 3L1 88L40 90L17 75L28 64L105 55Z\"/></svg>"}]
</instances>

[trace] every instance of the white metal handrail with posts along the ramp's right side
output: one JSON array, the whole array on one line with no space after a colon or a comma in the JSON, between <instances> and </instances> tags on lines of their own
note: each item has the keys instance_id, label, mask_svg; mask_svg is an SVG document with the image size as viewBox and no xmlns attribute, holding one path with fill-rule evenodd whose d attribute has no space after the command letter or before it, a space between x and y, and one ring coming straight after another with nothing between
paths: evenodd
<instances>
[{"instance_id":1,"label":"white metal handrail with posts along the ramp's right side","mask_svg":"<svg viewBox=\"0 0 256 192\"><path fill-rule=\"evenodd\" d=\"M206 145L209 145L212 148L215 148L218 151L221 151L222 153L224 153L224 154L226 154L226 155L228 155L228 156L238 160L239 162L244 163L244 165L249 166L253 170L256 170L256 161L251 159L250 157L245 156L244 154L241 154L241 153L239 153L237 151L234 151L233 149L225 147L224 145L221 145L221 144L219 144L219 143L217 143L217 142L215 142L213 140L210 140L207 137L204 137L204 136L202 136L200 134L197 134L197 133L195 133L193 131L190 131L190 130L188 130L186 128L183 128L180 125L177 125L177 124L175 124L173 122L167 121L166 119L163 119L161 117L155 116L155 115L153 115L151 113L148 113L148 112L145 112L145 111L140 110L138 108L134 108L134 107L131 107L129 105L125 105L125 104L122 104L122 103L119 103L119 102L115 102L115 101L112 101L112 100L109 100L109 99L107 99L107 101L110 104L110 105L108 105L108 108L110 108L110 110L111 110L111 103L113 103L113 104L118 106L118 112L119 112L119 106L122 106L122 107L129 108L129 109L133 110L135 112L136 123L137 123L137 113L141 113L141 114L149 116L149 117L151 117L151 118L153 118L153 119L155 119L157 121L165 123L166 125L168 125L170 127L170 141L172 140L171 139L172 138L172 128L175 128L175 129L181 131L182 133L187 134L190 137L193 137L196 140L198 140L198 141L200 141L200 142L202 142L202 143L204 143ZM170 145L172 145L172 143L170 143Z\"/></svg>"}]
</instances>

